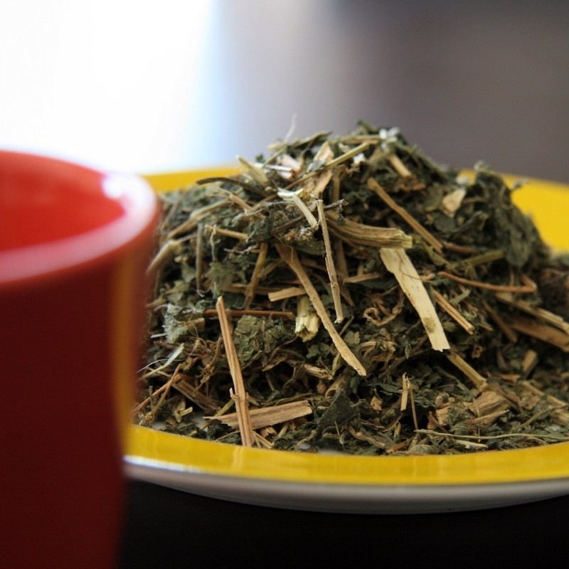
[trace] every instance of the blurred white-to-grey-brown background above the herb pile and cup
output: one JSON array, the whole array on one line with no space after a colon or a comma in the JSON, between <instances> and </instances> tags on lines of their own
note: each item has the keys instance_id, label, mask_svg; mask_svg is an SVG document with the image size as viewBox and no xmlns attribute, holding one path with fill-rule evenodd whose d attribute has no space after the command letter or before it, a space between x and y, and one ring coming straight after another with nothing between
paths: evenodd
<instances>
[{"instance_id":1,"label":"blurred white-to-grey-brown background above the herb pile and cup","mask_svg":"<svg viewBox=\"0 0 569 569\"><path fill-rule=\"evenodd\" d=\"M155 173L358 119L569 182L566 0L2 0L0 147Z\"/></svg>"}]
</instances>

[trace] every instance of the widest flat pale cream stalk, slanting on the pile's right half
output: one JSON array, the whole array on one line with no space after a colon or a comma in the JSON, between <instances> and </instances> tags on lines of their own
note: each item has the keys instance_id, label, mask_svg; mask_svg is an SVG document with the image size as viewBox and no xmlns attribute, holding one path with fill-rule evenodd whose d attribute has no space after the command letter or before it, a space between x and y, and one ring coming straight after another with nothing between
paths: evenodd
<instances>
[{"instance_id":1,"label":"widest flat pale cream stalk, slanting on the pile's right half","mask_svg":"<svg viewBox=\"0 0 569 569\"><path fill-rule=\"evenodd\" d=\"M447 336L437 316L437 311L407 253L401 248L381 248L379 255L385 268L393 273L405 296L413 304L413 308L415 308L427 332L432 349L437 351L450 349Z\"/></svg>"}]
</instances>

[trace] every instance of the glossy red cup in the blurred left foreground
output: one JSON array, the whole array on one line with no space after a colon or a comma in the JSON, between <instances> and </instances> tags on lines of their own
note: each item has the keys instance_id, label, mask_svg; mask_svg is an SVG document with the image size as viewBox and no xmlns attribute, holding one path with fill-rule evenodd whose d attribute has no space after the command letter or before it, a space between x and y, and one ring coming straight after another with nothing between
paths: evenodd
<instances>
[{"instance_id":1,"label":"glossy red cup in the blurred left foreground","mask_svg":"<svg viewBox=\"0 0 569 569\"><path fill-rule=\"evenodd\" d=\"M110 568L156 199L0 151L0 566Z\"/></svg>"}]
</instances>

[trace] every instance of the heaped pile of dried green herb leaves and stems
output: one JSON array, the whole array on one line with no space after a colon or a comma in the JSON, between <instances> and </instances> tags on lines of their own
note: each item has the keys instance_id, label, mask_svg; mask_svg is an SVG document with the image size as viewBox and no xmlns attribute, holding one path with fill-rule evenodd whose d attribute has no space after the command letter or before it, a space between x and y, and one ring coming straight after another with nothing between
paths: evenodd
<instances>
[{"instance_id":1,"label":"heaped pile of dried green herb leaves and stems","mask_svg":"<svg viewBox=\"0 0 569 569\"><path fill-rule=\"evenodd\" d=\"M569 258L367 124L161 196L141 425L357 454L569 440Z\"/></svg>"}]
</instances>

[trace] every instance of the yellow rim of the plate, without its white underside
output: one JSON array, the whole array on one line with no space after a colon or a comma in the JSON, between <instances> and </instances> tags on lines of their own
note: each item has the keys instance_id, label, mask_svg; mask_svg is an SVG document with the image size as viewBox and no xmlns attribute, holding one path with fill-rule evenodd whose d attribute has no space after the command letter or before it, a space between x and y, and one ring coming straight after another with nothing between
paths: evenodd
<instances>
[{"instance_id":1,"label":"yellow rim of the plate, without its white underside","mask_svg":"<svg viewBox=\"0 0 569 569\"><path fill-rule=\"evenodd\" d=\"M156 191L164 191L235 171L234 166L222 166L144 177ZM523 179L514 175L504 178L509 183ZM523 180L524 190L516 191L514 200L533 216L546 241L569 249L568 231L559 215L562 210L569 211L569 186ZM302 484L458 486L569 479L569 442L457 455L345 456L245 448L131 425L125 454L127 462L164 469Z\"/></svg>"}]
</instances>

